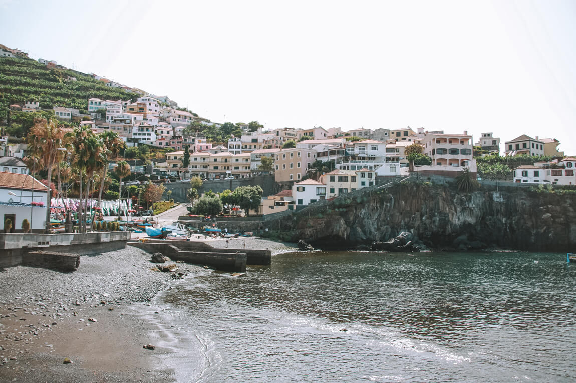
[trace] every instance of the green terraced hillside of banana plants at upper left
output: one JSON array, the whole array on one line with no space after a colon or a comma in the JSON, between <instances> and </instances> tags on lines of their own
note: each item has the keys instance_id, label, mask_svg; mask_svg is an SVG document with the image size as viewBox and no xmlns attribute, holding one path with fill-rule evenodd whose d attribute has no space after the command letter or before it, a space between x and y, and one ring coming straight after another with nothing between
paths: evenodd
<instances>
[{"instance_id":1,"label":"green terraced hillside of banana plants at upper left","mask_svg":"<svg viewBox=\"0 0 576 383\"><path fill-rule=\"evenodd\" d=\"M68 77L77 81L67 81ZM40 108L54 106L86 110L88 99L134 99L137 95L72 70L48 69L30 59L0 59L0 103L2 106L40 102Z\"/></svg>"}]
</instances>

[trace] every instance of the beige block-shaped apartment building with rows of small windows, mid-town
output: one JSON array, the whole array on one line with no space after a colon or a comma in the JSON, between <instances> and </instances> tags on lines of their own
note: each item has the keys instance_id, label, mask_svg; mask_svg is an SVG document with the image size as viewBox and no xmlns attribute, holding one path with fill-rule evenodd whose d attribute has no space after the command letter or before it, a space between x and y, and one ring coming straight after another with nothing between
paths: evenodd
<instances>
[{"instance_id":1,"label":"beige block-shaped apartment building with rows of small windows, mid-town","mask_svg":"<svg viewBox=\"0 0 576 383\"><path fill-rule=\"evenodd\" d=\"M308 164L316 160L316 151L305 148L283 149L274 160L274 181L299 181L306 174Z\"/></svg>"}]
</instances>

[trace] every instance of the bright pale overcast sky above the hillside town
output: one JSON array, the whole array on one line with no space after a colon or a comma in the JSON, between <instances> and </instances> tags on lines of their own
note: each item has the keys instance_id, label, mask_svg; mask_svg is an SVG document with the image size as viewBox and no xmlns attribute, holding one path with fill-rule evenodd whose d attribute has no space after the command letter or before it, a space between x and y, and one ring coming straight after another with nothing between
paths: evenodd
<instances>
[{"instance_id":1,"label":"bright pale overcast sky above the hillside town","mask_svg":"<svg viewBox=\"0 0 576 383\"><path fill-rule=\"evenodd\" d=\"M0 0L0 44L215 122L401 129L576 155L576 2Z\"/></svg>"}]
</instances>

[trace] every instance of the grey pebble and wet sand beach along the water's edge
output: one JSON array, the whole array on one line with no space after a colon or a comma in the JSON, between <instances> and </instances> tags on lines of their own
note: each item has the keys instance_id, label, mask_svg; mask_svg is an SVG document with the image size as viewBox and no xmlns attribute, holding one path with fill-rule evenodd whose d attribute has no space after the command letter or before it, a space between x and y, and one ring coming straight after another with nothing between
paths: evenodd
<instances>
[{"instance_id":1,"label":"grey pebble and wet sand beach along the water's edge","mask_svg":"<svg viewBox=\"0 0 576 383\"><path fill-rule=\"evenodd\" d=\"M259 238L210 243L273 255L297 250ZM201 376L200 362L190 366L202 357L199 343L188 336L194 329L179 327L175 311L160 301L175 284L214 271L177 263L177 272L187 276L175 280L170 273L150 271L155 265L149 261L150 254L127 246L82 256L74 273L23 266L3 270L0 380L169 382ZM156 349L145 350L145 344ZM73 363L63 364L65 358ZM179 371L181 358L189 365L185 371Z\"/></svg>"}]
</instances>

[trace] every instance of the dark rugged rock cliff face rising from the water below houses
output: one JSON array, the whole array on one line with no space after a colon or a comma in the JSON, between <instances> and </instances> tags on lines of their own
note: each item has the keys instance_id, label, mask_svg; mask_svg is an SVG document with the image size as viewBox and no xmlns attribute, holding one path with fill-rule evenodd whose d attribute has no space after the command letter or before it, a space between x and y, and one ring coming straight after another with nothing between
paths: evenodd
<instances>
[{"instance_id":1,"label":"dark rugged rock cliff face rising from the water below houses","mask_svg":"<svg viewBox=\"0 0 576 383\"><path fill-rule=\"evenodd\" d=\"M409 231L431 248L569 252L576 251L575 208L576 194L520 187L463 194L452 185L399 184L312 205L275 228L319 247L353 247Z\"/></svg>"}]
</instances>

